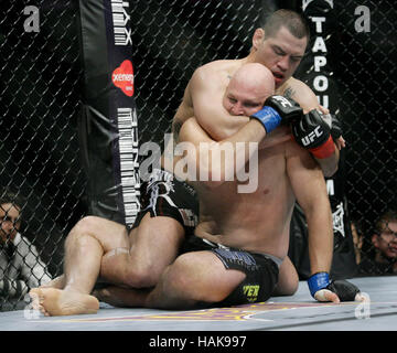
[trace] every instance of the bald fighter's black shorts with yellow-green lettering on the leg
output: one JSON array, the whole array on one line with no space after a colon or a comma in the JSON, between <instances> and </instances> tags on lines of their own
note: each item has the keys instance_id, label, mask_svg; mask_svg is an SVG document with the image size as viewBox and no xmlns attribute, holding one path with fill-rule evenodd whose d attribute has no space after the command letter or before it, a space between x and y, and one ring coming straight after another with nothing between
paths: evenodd
<instances>
[{"instance_id":1,"label":"bald fighter's black shorts with yellow-green lettering on the leg","mask_svg":"<svg viewBox=\"0 0 397 353\"><path fill-rule=\"evenodd\" d=\"M223 263L226 269L237 269L246 274L246 278L223 301L214 303L219 306L239 306L266 301L271 297L278 282L279 265L265 254L249 253L190 235L185 240L182 252L210 250Z\"/></svg>"}]
</instances>

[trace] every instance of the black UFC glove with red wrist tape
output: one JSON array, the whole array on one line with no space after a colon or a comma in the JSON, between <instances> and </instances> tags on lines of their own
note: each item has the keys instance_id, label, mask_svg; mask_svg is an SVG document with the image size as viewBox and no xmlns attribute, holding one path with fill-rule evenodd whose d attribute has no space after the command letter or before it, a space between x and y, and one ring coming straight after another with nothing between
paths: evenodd
<instances>
[{"instance_id":1,"label":"black UFC glove with red wrist tape","mask_svg":"<svg viewBox=\"0 0 397 353\"><path fill-rule=\"evenodd\" d=\"M331 128L315 109L292 124L292 133L298 145L318 159L331 157L335 151Z\"/></svg>"}]
</instances>

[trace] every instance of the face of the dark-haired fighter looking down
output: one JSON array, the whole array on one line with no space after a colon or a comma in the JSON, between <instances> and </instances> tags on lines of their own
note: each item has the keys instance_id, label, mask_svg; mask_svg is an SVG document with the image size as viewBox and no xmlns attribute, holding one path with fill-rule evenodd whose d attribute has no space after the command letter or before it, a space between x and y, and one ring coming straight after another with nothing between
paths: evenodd
<instances>
[{"instance_id":1,"label":"face of the dark-haired fighter looking down","mask_svg":"<svg viewBox=\"0 0 397 353\"><path fill-rule=\"evenodd\" d=\"M256 62L264 64L271 71L277 88L290 78L298 68L304 55L308 40L307 38L296 38L285 26L281 26L273 36L264 39L264 30L257 29L253 39Z\"/></svg>"}]
</instances>

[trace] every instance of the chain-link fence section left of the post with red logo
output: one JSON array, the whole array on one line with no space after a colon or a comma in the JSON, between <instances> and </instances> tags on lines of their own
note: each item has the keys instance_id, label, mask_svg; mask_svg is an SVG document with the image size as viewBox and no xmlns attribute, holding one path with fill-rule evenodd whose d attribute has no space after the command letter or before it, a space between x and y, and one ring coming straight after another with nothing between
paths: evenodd
<instances>
[{"instance_id":1,"label":"chain-link fence section left of the post with red logo","mask_svg":"<svg viewBox=\"0 0 397 353\"><path fill-rule=\"evenodd\" d=\"M11 249L1 246L0 307L6 310L26 292L19 280L41 282L42 276L33 275L39 258L52 277L62 272L64 237L86 212L86 181L76 130L77 6L2 0L0 9L0 197L10 192L18 197L22 236ZM29 253L37 260L28 260Z\"/></svg>"}]
</instances>

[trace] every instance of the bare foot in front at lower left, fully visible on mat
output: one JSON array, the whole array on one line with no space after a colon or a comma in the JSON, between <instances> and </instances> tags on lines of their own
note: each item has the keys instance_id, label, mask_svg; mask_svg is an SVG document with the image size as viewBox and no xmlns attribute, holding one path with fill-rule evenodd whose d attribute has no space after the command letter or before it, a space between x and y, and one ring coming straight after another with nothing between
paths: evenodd
<instances>
[{"instance_id":1,"label":"bare foot in front at lower left, fully visible on mat","mask_svg":"<svg viewBox=\"0 0 397 353\"><path fill-rule=\"evenodd\" d=\"M96 313L99 301L93 296L56 288L34 288L29 292L32 308L46 317Z\"/></svg>"}]
</instances>

